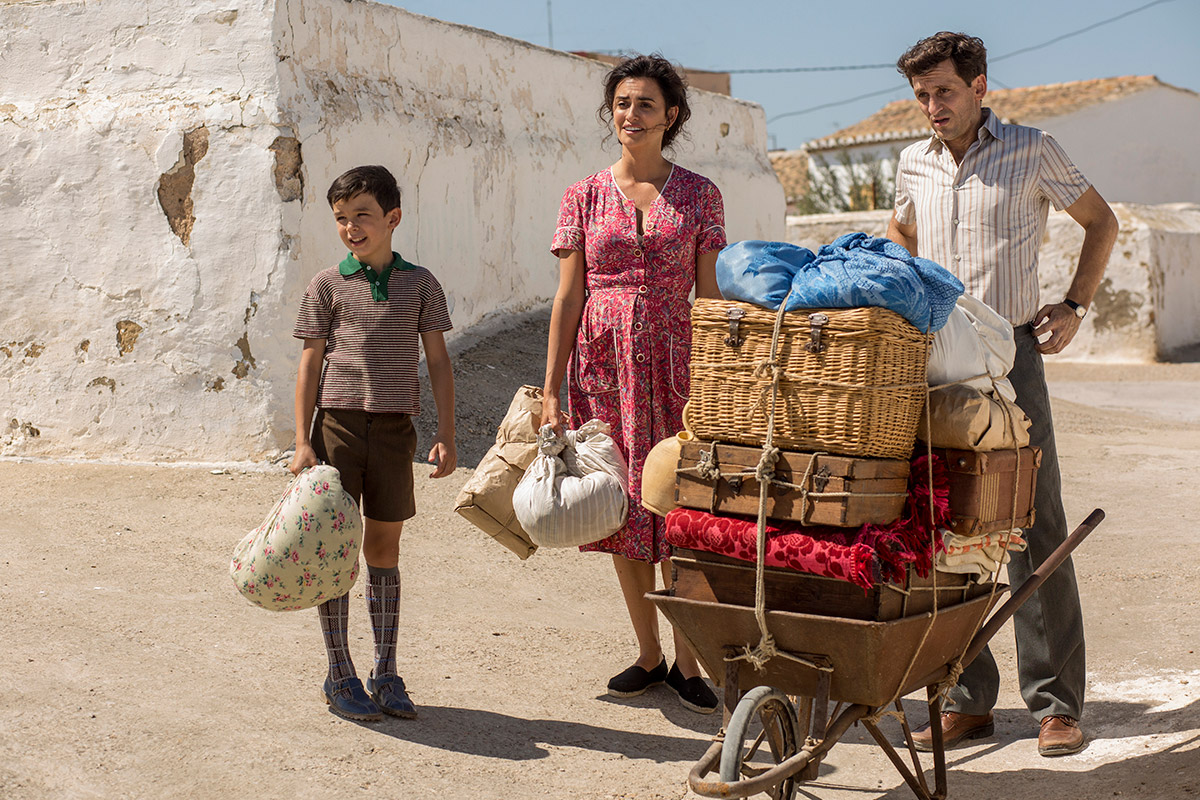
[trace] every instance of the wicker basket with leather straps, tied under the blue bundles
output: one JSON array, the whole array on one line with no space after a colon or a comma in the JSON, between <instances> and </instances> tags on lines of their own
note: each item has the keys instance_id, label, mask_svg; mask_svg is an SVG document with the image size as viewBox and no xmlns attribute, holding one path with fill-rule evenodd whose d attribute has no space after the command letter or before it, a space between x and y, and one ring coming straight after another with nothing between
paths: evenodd
<instances>
[{"instance_id":1,"label":"wicker basket with leather straps, tied under the blue bundles","mask_svg":"<svg viewBox=\"0 0 1200 800\"><path fill-rule=\"evenodd\" d=\"M770 411L776 312L700 299L691 312L691 399L685 423L700 439L761 445ZM925 403L931 335L886 308L788 312L774 445L908 458ZM757 374L756 374L757 373Z\"/></svg>"}]
</instances>

